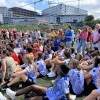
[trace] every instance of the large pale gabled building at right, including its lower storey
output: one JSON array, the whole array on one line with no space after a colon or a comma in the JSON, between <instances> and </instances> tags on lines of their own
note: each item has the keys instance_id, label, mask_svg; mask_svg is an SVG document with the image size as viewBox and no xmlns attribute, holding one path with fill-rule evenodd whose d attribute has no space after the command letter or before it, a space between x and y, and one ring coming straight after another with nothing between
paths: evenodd
<instances>
[{"instance_id":1,"label":"large pale gabled building at right, including its lower storey","mask_svg":"<svg viewBox=\"0 0 100 100\"><path fill-rule=\"evenodd\" d=\"M73 6L59 4L42 11L49 23L77 23L84 21L88 12Z\"/></svg>"}]
</instances>

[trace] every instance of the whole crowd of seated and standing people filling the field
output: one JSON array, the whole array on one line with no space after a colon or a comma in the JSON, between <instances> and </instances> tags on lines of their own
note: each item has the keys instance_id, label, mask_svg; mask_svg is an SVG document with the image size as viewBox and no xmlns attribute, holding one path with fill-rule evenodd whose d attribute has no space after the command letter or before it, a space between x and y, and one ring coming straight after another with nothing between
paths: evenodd
<instances>
[{"instance_id":1,"label":"whole crowd of seated and standing people filling the field","mask_svg":"<svg viewBox=\"0 0 100 100\"><path fill-rule=\"evenodd\" d=\"M95 29L83 27L74 32L63 29L26 30L0 29L0 100L96 100L100 95L100 24ZM36 85L37 78L54 77L52 86ZM11 90L22 82L25 88ZM16 85L15 85L16 86ZM27 96L25 96L27 97Z\"/></svg>"}]
</instances>

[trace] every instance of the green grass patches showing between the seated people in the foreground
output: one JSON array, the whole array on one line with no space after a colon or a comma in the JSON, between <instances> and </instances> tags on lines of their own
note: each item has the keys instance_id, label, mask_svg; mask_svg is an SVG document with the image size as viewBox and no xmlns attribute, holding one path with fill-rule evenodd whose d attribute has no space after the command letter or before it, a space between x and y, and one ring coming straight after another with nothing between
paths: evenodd
<instances>
[{"instance_id":1,"label":"green grass patches showing between the seated people in the foreground","mask_svg":"<svg viewBox=\"0 0 100 100\"><path fill-rule=\"evenodd\" d=\"M53 80L53 79L54 78L47 78L47 77L39 78L39 79L37 79L37 83L36 84L40 85L40 86L50 87L52 85L51 84L51 80ZM14 91L17 91L17 90L19 90L21 88L19 88L19 84L16 84L16 85L12 86L11 89L14 90ZM7 97L5 92L3 94ZM78 98L76 98L76 100L83 100L83 98L84 98L84 96L83 97L78 97ZM25 100L24 99L24 95L17 97L16 100Z\"/></svg>"}]
</instances>

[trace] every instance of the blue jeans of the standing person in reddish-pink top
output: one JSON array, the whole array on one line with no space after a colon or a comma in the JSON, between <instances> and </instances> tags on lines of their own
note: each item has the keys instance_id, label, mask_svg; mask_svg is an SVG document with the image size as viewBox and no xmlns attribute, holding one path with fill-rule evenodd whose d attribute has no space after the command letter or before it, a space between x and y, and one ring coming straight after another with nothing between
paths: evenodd
<instances>
[{"instance_id":1,"label":"blue jeans of the standing person in reddish-pink top","mask_svg":"<svg viewBox=\"0 0 100 100\"><path fill-rule=\"evenodd\" d=\"M80 52L80 48L82 47L82 55L85 56L85 49L86 49L87 41L81 39L77 48L77 52Z\"/></svg>"}]
</instances>

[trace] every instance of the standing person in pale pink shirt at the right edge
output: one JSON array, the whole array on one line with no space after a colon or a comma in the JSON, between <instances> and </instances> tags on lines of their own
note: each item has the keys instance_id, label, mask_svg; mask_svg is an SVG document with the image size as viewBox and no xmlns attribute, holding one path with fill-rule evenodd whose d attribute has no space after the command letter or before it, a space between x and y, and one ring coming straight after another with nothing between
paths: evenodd
<instances>
[{"instance_id":1,"label":"standing person in pale pink shirt at the right edge","mask_svg":"<svg viewBox=\"0 0 100 100\"><path fill-rule=\"evenodd\" d=\"M100 50L100 24L96 24L94 32L92 33L93 47L97 47Z\"/></svg>"}]
</instances>

